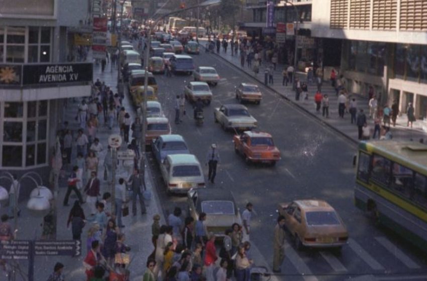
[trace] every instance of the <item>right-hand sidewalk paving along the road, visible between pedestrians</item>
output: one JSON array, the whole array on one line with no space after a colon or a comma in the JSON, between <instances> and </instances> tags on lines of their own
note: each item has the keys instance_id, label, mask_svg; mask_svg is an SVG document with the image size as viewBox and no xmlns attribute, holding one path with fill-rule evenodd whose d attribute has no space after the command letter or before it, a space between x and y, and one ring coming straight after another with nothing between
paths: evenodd
<instances>
[{"instance_id":1,"label":"right-hand sidewalk paving along the road, visible between pedestrians","mask_svg":"<svg viewBox=\"0 0 427 281\"><path fill-rule=\"evenodd\" d=\"M205 46L207 39L201 39L200 45ZM257 76L254 76L254 72L252 68L248 68L247 62L245 60L245 66L241 67L240 65L240 53L239 55L231 55L231 48L228 48L227 53L224 53L223 48L219 54L215 53L216 56L223 58L225 61L230 64L236 66L237 68L244 71L246 74L250 75L252 79L258 80L260 83L264 83L264 70L266 67L272 65L271 63L262 61L262 64L259 69L259 73ZM253 63L253 62L252 62ZM355 124L351 124L350 113L345 113L344 119L341 119L338 115L338 97L336 96L335 89L331 86L329 81L324 81L322 84L322 94L328 94L330 106L329 106L329 118L325 118L322 114L316 113L315 103L314 103L314 94L316 92L316 85L314 82L311 85L308 85L308 100L304 100L302 94L300 95L299 101L295 100L295 91L292 90L292 84L288 83L288 86L282 85L282 71L287 68L287 66L283 64L277 64L276 70L274 71L273 81L274 84L268 84L268 87L280 94L281 96L288 99L294 105L302 108L306 112L315 116L319 120L322 120L323 123L329 125L333 129L339 131L346 137L352 139L354 142L358 142L358 129ZM296 77L300 81L307 81L307 74L303 72L297 72ZM243 81L242 81L243 82ZM356 98L357 101L357 109L363 109L366 116L368 117L368 123L371 127L372 133L374 129L373 119L369 118L369 106L368 106L368 98L359 94L352 94L350 98ZM321 109L322 110L322 109ZM422 130L422 122L417 120L413 123L413 128L410 129L406 126L407 117L406 114L402 114L397 117L396 126L391 126L391 132L393 134L393 139L398 140L406 140L413 139L413 141L418 141L420 138L425 138L427 133ZM372 136L372 134L371 134Z\"/></svg>"}]
</instances>

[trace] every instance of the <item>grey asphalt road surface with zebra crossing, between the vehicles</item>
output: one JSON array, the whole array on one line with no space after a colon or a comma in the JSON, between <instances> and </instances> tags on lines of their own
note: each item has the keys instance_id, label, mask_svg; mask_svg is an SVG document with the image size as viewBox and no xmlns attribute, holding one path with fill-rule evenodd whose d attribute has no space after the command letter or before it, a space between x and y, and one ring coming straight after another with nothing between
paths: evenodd
<instances>
[{"instance_id":1,"label":"grey asphalt road surface with zebra crossing, between the vehicles","mask_svg":"<svg viewBox=\"0 0 427 281\"><path fill-rule=\"evenodd\" d=\"M196 66L215 67L222 78L218 86L212 88L213 101L204 109L204 124L201 127L195 125L190 118L192 108L189 104L186 105L184 121L179 125L173 123L175 96L183 93L184 83L192 80L192 76L166 78L156 75L159 101L171 120L172 132L184 136L190 152L201 163L205 163L210 144L218 145L221 156L218 175L216 183L208 184L208 188L217 188L219 192L230 189L241 210L249 201L254 204L251 242L265 260L271 265L271 241L279 202L312 198L327 200L348 227L350 243L343 247L341 253L334 250L297 251L288 237L289 245L282 266L283 279L373 280L407 279L407 276L417 279L420 274L420 279L427 278L424 254L375 225L354 207L352 158L356 146L352 142L261 85L264 94L261 104L246 106L258 120L258 130L273 135L282 160L275 167L245 164L243 158L234 152L233 133L225 132L218 123L214 123L213 108L236 103L234 87L241 82L254 81L215 55L201 53L193 58ZM165 214L175 206L185 210L185 197L166 195L158 164L151 156L149 159Z\"/></svg>"}]
</instances>

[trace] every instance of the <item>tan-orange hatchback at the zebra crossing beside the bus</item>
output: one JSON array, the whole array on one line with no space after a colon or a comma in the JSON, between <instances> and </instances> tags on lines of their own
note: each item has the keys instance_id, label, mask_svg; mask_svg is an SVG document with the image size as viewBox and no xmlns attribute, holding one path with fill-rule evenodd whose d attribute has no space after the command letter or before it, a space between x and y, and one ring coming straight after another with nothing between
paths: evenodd
<instances>
[{"instance_id":1,"label":"tan-orange hatchback at the zebra crossing beside the bus","mask_svg":"<svg viewBox=\"0 0 427 281\"><path fill-rule=\"evenodd\" d=\"M334 208L323 200L295 200L281 203L278 212L293 236L297 249L336 247L347 244L349 233Z\"/></svg>"}]
</instances>

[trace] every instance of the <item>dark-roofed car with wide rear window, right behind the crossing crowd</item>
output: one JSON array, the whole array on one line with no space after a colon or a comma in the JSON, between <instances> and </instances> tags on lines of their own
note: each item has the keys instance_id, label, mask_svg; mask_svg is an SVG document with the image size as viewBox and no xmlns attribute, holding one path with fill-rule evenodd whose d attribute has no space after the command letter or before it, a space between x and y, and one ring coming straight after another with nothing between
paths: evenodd
<instances>
[{"instance_id":1,"label":"dark-roofed car with wide rear window, right behind the crossing crowd","mask_svg":"<svg viewBox=\"0 0 427 281\"><path fill-rule=\"evenodd\" d=\"M228 189L190 189L187 193L189 215L198 220L200 213L206 213L203 224L207 232L224 237L225 230L234 223L242 225L239 208L232 192Z\"/></svg>"}]
</instances>

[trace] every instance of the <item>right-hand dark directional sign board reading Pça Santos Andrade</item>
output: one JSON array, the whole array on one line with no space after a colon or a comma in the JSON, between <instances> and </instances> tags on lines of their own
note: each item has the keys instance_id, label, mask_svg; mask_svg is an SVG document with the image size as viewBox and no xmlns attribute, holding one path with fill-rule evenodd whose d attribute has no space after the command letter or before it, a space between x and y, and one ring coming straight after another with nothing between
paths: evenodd
<instances>
[{"instance_id":1,"label":"right-hand dark directional sign board reading P\u00e7a Santos Andrade","mask_svg":"<svg viewBox=\"0 0 427 281\"><path fill-rule=\"evenodd\" d=\"M79 240L34 241L35 255L80 255Z\"/></svg>"}]
</instances>

